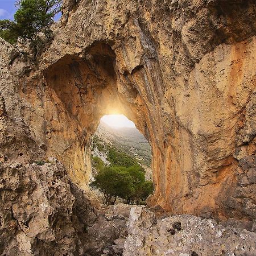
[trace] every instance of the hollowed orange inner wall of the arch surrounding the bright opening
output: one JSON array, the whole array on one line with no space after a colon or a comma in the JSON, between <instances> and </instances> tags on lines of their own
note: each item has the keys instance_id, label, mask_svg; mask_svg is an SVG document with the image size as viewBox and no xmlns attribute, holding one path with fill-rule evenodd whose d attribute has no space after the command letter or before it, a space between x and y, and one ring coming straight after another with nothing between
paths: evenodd
<instances>
[{"instance_id":1,"label":"hollowed orange inner wall of the arch surrounding the bright opening","mask_svg":"<svg viewBox=\"0 0 256 256\"><path fill-rule=\"evenodd\" d=\"M165 164L160 150L164 146L162 126L160 117L152 116L157 113L152 106L153 95L138 85L148 74L143 68L133 74L120 73L116 58L109 44L97 42L84 52L63 56L47 68L44 77L51 98L46 102L51 109L45 133L47 154L64 163L73 183L88 189L98 124L104 115L123 114L135 123L150 152L152 148L152 163L151 158L147 160L152 172L148 176L154 182L154 194L160 193L159 188L166 189L158 186L161 164Z\"/></svg>"}]
</instances>

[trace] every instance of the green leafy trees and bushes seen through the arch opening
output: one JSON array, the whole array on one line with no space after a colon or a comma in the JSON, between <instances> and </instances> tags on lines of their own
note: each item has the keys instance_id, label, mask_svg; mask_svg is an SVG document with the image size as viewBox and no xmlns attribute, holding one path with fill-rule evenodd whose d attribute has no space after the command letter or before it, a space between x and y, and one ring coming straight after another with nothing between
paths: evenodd
<instances>
[{"instance_id":1,"label":"green leafy trees and bushes seen through the arch opening","mask_svg":"<svg viewBox=\"0 0 256 256\"><path fill-rule=\"evenodd\" d=\"M144 203L154 188L152 181L145 180L144 168L137 160L113 146L101 143L97 136L94 137L93 147L108 152L109 167L105 167L97 156L92 158L92 166L98 174L90 184L104 193L105 204L114 203L117 196L125 199L127 204Z\"/></svg>"}]
</instances>

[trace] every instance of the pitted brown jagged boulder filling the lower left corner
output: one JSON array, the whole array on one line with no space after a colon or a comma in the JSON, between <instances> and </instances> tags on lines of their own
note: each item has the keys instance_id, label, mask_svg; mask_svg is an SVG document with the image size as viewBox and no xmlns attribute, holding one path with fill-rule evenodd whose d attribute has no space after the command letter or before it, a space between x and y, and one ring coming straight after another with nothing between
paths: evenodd
<instances>
[{"instance_id":1,"label":"pitted brown jagged boulder filling the lower left corner","mask_svg":"<svg viewBox=\"0 0 256 256\"><path fill-rule=\"evenodd\" d=\"M71 215L75 201L64 167L1 164L1 255L51 255L76 249Z\"/></svg>"}]
</instances>

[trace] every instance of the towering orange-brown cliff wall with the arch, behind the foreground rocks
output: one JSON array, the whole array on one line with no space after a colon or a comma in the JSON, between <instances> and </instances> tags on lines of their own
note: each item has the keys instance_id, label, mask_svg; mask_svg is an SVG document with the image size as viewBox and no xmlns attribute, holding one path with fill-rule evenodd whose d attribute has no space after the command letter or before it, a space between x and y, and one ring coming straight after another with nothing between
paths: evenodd
<instances>
[{"instance_id":1,"label":"towering orange-brown cliff wall with the arch, behind the foreground rocks","mask_svg":"<svg viewBox=\"0 0 256 256\"><path fill-rule=\"evenodd\" d=\"M4 170L54 156L84 186L92 135L117 110L151 144L149 204L253 220L255 9L240 0L66 0L36 63L1 40ZM20 191L1 186L2 198ZM9 215L26 222L18 209Z\"/></svg>"}]
</instances>

